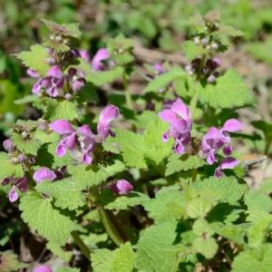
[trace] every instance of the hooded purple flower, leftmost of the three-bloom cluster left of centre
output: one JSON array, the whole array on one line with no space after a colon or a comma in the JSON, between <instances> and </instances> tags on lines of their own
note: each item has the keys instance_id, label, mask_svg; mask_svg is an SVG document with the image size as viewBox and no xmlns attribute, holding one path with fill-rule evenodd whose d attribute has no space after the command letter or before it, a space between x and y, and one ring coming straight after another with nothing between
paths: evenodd
<instances>
[{"instance_id":1,"label":"hooded purple flower, leftmost of the three-bloom cluster left of centre","mask_svg":"<svg viewBox=\"0 0 272 272\"><path fill-rule=\"evenodd\" d=\"M55 133L62 136L62 141L59 142L56 148L56 154L63 157L66 150L72 150L76 144L75 131L73 131L70 122L66 120L53 121L49 126Z\"/></svg>"}]
</instances>

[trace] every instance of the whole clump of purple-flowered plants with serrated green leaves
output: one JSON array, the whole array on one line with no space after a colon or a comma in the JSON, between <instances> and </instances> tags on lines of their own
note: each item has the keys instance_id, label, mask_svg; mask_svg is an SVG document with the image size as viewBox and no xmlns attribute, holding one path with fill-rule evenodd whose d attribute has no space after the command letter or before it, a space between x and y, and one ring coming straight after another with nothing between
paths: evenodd
<instances>
[{"instance_id":1,"label":"whole clump of purple-flowered plants with serrated green leaves","mask_svg":"<svg viewBox=\"0 0 272 272\"><path fill-rule=\"evenodd\" d=\"M247 136L237 110L254 100L237 72L219 70L240 33L214 14L191 22L189 63L155 63L141 94L131 94L133 42L122 35L91 57L74 48L78 24L44 20L44 44L16 54L33 80L17 103L41 115L10 130L1 183L65 271L77 271L71 248L97 272L238 272L249 258L268 271L271 182L248 189L236 151ZM115 100L103 89L113 83Z\"/></svg>"}]
</instances>

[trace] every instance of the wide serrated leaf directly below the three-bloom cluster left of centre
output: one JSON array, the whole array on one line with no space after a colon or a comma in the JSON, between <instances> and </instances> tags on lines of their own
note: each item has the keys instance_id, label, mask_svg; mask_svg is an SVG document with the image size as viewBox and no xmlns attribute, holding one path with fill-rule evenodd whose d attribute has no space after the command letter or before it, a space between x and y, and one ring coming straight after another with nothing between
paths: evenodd
<instances>
[{"instance_id":1,"label":"wide serrated leaf directly below the three-bloom cluster left of centre","mask_svg":"<svg viewBox=\"0 0 272 272\"><path fill-rule=\"evenodd\" d=\"M68 165L67 170L72 175L72 179L77 183L79 189L87 189L102 184L108 178L125 170L125 167L120 160L114 160L112 165L106 167Z\"/></svg>"}]
</instances>

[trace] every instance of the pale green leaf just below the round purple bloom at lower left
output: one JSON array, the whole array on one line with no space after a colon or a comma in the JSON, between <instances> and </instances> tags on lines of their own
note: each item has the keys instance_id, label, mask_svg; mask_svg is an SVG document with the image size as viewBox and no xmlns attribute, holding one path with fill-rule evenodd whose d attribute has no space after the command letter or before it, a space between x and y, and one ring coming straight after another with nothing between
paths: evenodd
<instances>
[{"instance_id":1,"label":"pale green leaf just below the round purple bloom at lower left","mask_svg":"<svg viewBox=\"0 0 272 272\"><path fill-rule=\"evenodd\" d=\"M70 179L57 182L44 181L35 189L55 199L54 205L61 209L77 209L84 205L84 198L78 184Z\"/></svg>"}]
</instances>

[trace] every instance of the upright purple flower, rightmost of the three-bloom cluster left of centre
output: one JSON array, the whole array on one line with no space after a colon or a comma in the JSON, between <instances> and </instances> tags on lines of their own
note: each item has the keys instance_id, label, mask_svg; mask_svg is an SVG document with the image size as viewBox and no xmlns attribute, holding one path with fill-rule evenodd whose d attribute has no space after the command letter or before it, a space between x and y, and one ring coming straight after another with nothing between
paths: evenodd
<instances>
[{"instance_id":1,"label":"upright purple flower, rightmost of the three-bloom cluster left of centre","mask_svg":"<svg viewBox=\"0 0 272 272\"><path fill-rule=\"evenodd\" d=\"M106 106L100 113L97 131L102 141L112 133L110 123L119 115L119 109L114 105Z\"/></svg>"}]
</instances>

